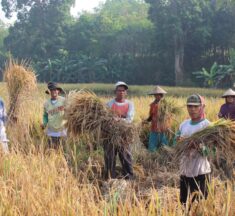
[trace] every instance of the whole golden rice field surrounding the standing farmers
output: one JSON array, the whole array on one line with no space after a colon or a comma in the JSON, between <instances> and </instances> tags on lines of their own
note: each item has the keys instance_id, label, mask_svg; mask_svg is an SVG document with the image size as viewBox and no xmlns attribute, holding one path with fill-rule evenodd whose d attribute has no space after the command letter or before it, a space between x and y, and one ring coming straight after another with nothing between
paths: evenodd
<instances>
[{"instance_id":1,"label":"whole golden rice field surrounding the standing farmers","mask_svg":"<svg viewBox=\"0 0 235 216\"><path fill-rule=\"evenodd\" d=\"M102 148L87 148L87 142L95 143L89 137L69 139L63 149L49 150L40 129L47 97L45 87L39 84L34 99L25 101L27 106L22 118L27 117L28 124L24 128L8 128L11 152L0 157L0 215L235 215L234 183L216 175L210 183L208 199L195 202L190 211L188 206L183 208L179 201L178 174L166 166L170 158L164 152L150 154L140 143L132 149L134 181L104 181ZM93 89L104 102L113 97L111 85L67 84L63 87L67 91ZM151 88L134 86L135 91L130 94L137 125L148 117L153 98L146 93ZM224 102L219 98L223 90L166 89L170 92L167 97L174 97L182 108L173 120L172 136L180 122L188 118L185 104L186 96L191 93L206 95L206 117L217 120ZM4 83L0 84L0 96L9 106Z\"/></svg>"}]
</instances>

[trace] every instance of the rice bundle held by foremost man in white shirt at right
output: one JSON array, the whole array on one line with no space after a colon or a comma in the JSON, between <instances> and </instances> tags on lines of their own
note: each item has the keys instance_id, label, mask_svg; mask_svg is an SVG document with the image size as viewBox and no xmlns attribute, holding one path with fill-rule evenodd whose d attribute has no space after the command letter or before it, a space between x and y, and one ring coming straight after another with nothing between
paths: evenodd
<instances>
[{"instance_id":1,"label":"rice bundle held by foremost man in white shirt at right","mask_svg":"<svg viewBox=\"0 0 235 216\"><path fill-rule=\"evenodd\" d=\"M223 159L228 165L235 160L235 122L220 119L209 127L181 140L176 145L175 159L178 161L183 155L189 155L192 149L208 155L217 161Z\"/></svg>"}]
</instances>

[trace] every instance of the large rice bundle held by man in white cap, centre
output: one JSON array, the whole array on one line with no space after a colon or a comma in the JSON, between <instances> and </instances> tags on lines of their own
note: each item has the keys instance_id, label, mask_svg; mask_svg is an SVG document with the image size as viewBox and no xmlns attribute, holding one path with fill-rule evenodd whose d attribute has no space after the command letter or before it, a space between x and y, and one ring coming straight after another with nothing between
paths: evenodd
<instances>
[{"instance_id":1,"label":"large rice bundle held by man in white cap, centre","mask_svg":"<svg viewBox=\"0 0 235 216\"><path fill-rule=\"evenodd\" d=\"M118 118L94 93L71 92L65 110L66 126L71 136L89 133L98 143L108 142L122 147L132 143L136 136L133 124Z\"/></svg>"}]
</instances>

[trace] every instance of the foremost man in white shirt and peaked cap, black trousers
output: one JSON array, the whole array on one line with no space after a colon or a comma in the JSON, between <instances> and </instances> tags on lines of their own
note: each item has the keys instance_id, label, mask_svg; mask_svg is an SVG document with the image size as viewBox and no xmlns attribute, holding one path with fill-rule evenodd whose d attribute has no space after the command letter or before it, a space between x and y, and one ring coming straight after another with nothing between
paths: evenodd
<instances>
[{"instance_id":1,"label":"foremost man in white shirt and peaked cap, black trousers","mask_svg":"<svg viewBox=\"0 0 235 216\"><path fill-rule=\"evenodd\" d=\"M210 122L205 118L204 98L198 94L191 95L187 99L187 110L190 119L185 120L179 128L179 140L190 137L194 133L209 126ZM181 158L180 163L180 201L186 204L188 194L200 192L205 198L208 195L207 183L209 181L211 167L204 156L205 146L200 146L202 153L192 149L189 154ZM197 197L193 197L193 201Z\"/></svg>"}]
</instances>

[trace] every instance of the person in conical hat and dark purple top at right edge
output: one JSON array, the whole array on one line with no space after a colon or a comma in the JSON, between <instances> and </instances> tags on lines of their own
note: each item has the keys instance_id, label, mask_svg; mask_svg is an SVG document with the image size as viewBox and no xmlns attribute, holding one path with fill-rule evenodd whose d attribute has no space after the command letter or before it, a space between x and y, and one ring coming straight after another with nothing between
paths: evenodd
<instances>
[{"instance_id":1,"label":"person in conical hat and dark purple top at right edge","mask_svg":"<svg viewBox=\"0 0 235 216\"><path fill-rule=\"evenodd\" d=\"M235 121L235 92L232 89L228 89L222 98L225 98L225 103L220 107L219 118Z\"/></svg>"}]
</instances>

